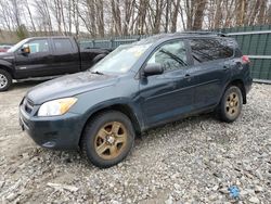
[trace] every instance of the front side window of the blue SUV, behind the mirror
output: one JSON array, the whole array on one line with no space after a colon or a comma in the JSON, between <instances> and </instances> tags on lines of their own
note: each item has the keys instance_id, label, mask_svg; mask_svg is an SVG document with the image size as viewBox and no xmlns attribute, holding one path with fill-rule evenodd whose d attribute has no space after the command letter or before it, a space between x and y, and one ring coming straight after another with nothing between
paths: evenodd
<instances>
[{"instance_id":1,"label":"front side window of the blue SUV, behind the mirror","mask_svg":"<svg viewBox=\"0 0 271 204\"><path fill-rule=\"evenodd\" d=\"M188 66L185 44L182 40L163 44L147 61L147 64L158 63L165 71L182 69Z\"/></svg>"}]
</instances>

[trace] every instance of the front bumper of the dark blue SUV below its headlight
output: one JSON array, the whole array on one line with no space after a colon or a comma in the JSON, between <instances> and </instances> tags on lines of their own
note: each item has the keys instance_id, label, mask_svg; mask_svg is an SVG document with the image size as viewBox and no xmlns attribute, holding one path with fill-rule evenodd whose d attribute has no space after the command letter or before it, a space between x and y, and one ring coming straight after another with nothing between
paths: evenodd
<instances>
[{"instance_id":1,"label":"front bumper of the dark blue SUV below its headlight","mask_svg":"<svg viewBox=\"0 0 271 204\"><path fill-rule=\"evenodd\" d=\"M76 150L82 131L80 115L37 117L20 105L20 125L39 145L55 150Z\"/></svg>"}]
</instances>

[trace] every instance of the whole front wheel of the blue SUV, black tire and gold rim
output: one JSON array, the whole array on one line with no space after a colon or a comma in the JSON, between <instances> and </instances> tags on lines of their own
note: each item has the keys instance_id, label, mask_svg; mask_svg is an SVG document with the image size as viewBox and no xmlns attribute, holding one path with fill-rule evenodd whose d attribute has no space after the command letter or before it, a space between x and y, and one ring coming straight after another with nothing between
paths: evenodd
<instances>
[{"instance_id":1,"label":"whole front wheel of the blue SUV, black tire and gold rim","mask_svg":"<svg viewBox=\"0 0 271 204\"><path fill-rule=\"evenodd\" d=\"M111 125L106 126L107 124L112 124L112 129L106 130L106 128L111 128ZM115 140L112 141L113 143L109 143L109 139L114 136L112 136L108 132L113 132L113 126L114 124L120 124L121 127L119 127L118 131L122 131L122 135L126 135L127 140L125 143L120 144L120 148L117 146L117 137L115 137ZM124 130L121 130L124 128ZM126 128L126 129L125 129ZM103 133L106 136L107 139L102 139L100 137L100 131L103 130ZM107 132L108 131L108 132ZM107 135L108 133L108 135ZM118 135L118 133L117 133ZM121 138L122 138L121 135ZM122 160L126 158L126 156L129 154L130 150L133 146L133 141L134 141L134 130L132 127L132 124L130 119L122 113L117 112L117 111L108 111L108 112L103 112L99 115L96 115L93 119L91 119L82 133L82 139L80 141L80 148L81 148L81 153L85 157L87 157L88 162L92 163L96 167L100 168L108 168L111 166L114 166L121 162ZM112 136L112 137L111 137ZM101 141L102 140L102 141ZM99 144L98 146L98 143ZM108 144L107 144L108 143ZM100 146L107 146L107 149L103 148L105 151L102 154L99 154L99 148ZM114 154L111 153L113 145L116 148L117 146L117 153L115 152L115 157L112 156ZM118 150L119 148L119 150ZM121 151L120 151L121 150ZM106 155L107 154L107 155ZM112 155L111 155L112 154Z\"/></svg>"}]
</instances>

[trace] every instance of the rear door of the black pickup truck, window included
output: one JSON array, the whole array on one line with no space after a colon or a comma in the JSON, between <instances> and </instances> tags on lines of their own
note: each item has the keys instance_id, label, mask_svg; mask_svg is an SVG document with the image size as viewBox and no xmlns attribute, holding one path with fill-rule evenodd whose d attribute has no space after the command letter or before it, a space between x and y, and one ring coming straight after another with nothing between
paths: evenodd
<instances>
[{"instance_id":1,"label":"rear door of the black pickup truck, window included","mask_svg":"<svg viewBox=\"0 0 271 204\"><path fill-rule=\"evenodd\" d=\"M77 44L69 38L52 38L53 63L55 74L68 74L80 71L80 55Z\"/></svg>"}]
</instances>

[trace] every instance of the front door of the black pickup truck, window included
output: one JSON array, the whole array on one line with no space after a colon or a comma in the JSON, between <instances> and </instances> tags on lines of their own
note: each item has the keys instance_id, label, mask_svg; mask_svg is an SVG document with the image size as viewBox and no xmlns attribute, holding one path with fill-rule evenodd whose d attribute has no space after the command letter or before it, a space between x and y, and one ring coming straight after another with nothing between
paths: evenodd
<instances>
[{"instance_id":1,"label":"front door of the black pickup truck, window included","mask_svg":"<svg viewBox=\"0 0 271 204\"><path fill-rule=\"evenodd\" d=\"M33 39L26 44L29 46L30 53L22 53L21 49L15 53L16 76L25 78L52 75L52 48L49 39Z\"/></svg>"}]
</instances>

